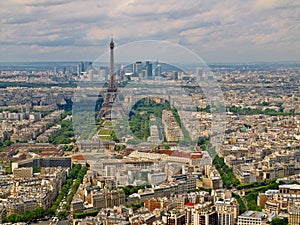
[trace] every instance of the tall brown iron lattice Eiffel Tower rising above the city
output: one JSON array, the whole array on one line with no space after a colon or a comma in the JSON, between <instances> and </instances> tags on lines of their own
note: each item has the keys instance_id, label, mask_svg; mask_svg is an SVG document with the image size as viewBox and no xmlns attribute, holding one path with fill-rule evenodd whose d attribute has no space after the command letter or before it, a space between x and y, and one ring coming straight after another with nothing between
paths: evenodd
<instances>
[{"instance_id":1,"label":"tall brown iron lattice Eiffel Tower rising above the city","mask_svg":"<svg viewBox=\"0 0 300 225\"><path fill-rule=\"evenodd\" d=\"M116 74L114 72L114 40L111 38L110 44L110 76L108 87L106 90L104 102L100 109L98 119L105 118L107 120L117 119L119 116L125 115L122 104L118 98L118 87L116 84Z\"/></svg>"}]
</instances>

